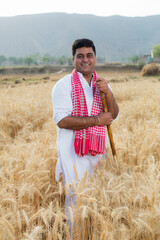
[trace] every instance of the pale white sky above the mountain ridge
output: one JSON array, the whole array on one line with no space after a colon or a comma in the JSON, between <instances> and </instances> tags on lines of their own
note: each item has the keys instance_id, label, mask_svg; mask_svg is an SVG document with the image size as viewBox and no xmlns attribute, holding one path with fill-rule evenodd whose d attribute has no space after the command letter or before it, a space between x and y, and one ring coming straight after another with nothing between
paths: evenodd
<instances>
[{"instance_id":1,"label":"pale white sky above the mountain ridge","mask_svg":"<svg viewBox=\"0 0 160 240\"><path fill-rule=\"evenodd\" d=\"M96 16L149 16L160 14L159 0L4 0L0 17L66 12Z\"/></svg>"}]
</instances>

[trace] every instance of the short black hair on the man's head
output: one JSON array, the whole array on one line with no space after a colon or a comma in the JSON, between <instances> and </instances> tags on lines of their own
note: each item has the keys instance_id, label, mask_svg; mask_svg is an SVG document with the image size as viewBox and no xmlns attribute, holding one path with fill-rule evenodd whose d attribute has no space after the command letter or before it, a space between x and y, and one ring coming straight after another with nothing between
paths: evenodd
<instances>
[{"instance_id":1,"label":"short black hair on the man's head","mask_svg":"<svg viewBox=\"0 0 160 240\"><path fill-rule=\"evenodd\" d=\"M76 49L77 48L81 48L81 47L91 47L96 55L96 48L94 46L94 43L92 40L87 39L87 38L81 38L81 39L77 39L76 41L74 41L74 43L72 44L72 56L74 57L75 53L76 53Z\"/></svg>"}]
</instances>

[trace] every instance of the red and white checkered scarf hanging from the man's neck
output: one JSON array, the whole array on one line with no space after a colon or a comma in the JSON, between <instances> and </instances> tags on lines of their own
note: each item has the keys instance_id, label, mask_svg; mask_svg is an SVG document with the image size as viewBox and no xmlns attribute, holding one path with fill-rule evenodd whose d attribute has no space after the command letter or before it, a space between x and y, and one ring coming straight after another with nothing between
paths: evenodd
<instances>
[{"instance_id":1,"label":"red and white checkered scarf hanging from the man's neck","mask_svg":"<svg viewBox=\"0 0 160 240\"><path fill-rule=\"evenodd\" d=\"M103 112L100 92L95 84L97 78L98 75L95 70L93 70L93 104L91 116L96 116L100 112ZM86 97L78 73L75 69L72 72L71 84L71 97L73 104L72 116L86 117L88 116ZM92 156L105 154L105 126L94 126L86 129L74 130L74 135L74 148L76 154L79 156L87 154L91 154Z\"/></svg>"}]
</instances>

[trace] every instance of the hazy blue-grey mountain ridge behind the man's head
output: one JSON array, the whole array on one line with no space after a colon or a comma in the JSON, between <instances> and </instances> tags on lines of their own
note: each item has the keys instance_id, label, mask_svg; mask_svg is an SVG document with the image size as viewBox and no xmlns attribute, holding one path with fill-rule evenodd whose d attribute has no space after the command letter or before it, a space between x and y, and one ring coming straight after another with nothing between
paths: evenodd
<instances>
[{"instance_id":1,"label":"hazy blue-grey mountain ridge behind the man's head","mask_svg":"<svg viewBox=\"0 0 160 240\"><path fill-rule=\"evenodd\" d=\"M99 17L46 13L0 17L0 55L6 57L35 53L69 57L72 42L83 37L92 39L97 56L107 61L148 54L160 43L160 15Z\"/></svg>"}]
</instances>

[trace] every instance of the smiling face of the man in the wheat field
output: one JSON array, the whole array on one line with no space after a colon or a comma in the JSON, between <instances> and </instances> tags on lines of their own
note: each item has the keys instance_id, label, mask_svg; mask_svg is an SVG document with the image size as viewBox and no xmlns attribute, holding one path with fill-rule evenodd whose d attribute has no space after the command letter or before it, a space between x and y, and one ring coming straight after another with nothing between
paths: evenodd
<instances>
[{"instance_id":1,"label":"smiling face of the man in the wheat field","mask_svg":"<svg viewBox=\"0 0 160 240\"><path fill-rule=\"evenodd\" d=\"M72 61L77 72L83 75L91 75L96 64L96 56L91 47L77 48Z\"/></svg>"}]
</instances>

